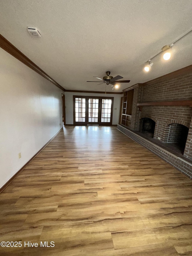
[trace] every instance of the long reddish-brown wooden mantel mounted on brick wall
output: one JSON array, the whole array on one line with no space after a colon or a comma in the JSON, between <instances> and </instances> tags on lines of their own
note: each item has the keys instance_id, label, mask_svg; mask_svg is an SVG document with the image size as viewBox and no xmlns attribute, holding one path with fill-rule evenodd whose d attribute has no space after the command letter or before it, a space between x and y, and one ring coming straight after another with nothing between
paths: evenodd
<instances>
[{"instance_id":1,"label":"long reddish-brown wooden mantel mounted on brick wall","mask_svg":"<svg viewBox=\"0 0 192 256\"><path fill-rule=\"evenodd\" d=\"M143 106L190 106L192 107L192 101L157 101L157 102L142 102L137 103L137 107L142 111Z\"/></svg>"}]
</instances>

